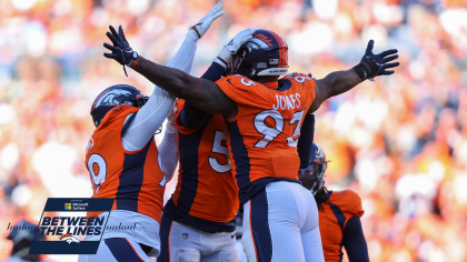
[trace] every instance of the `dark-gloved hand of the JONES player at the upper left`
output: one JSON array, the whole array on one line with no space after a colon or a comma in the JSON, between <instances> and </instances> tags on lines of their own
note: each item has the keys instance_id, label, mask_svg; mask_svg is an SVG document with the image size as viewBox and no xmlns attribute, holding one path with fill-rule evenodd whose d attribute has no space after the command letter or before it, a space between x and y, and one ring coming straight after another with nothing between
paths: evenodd
<instances>
[{"instance_id":1,"label":"dark-gloved hand of the JONES player at the upper left","mask_svg":"<svg viewBox=\"0 0 467 262\"><path fill-rule=\"evenodd\" d=\"M103 53L103 57L113 59L123 66L125 74L127 74L127 70L125 69L126 64L129 64L131 61L138 59L138 53L135 52L130 44L128 43L127 39L125 38L123 29L121 26L118 28L118 32L112 26L109 26L110 32L107 32L107 37L112 41L112 44L103 43L103 47L112 51L111 53ZM133 62L131 62L132 64ZM128 74L127 74L128 77Z\"/></svg>"}]
</instances>

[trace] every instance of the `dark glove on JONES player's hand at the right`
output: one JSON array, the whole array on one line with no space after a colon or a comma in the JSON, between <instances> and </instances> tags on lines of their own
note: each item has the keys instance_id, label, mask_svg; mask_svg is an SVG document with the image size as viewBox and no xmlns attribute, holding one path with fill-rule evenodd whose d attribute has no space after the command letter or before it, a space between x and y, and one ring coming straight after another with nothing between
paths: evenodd
<instances>
[{"instance_id":1,"label":"dark glove on JONES player's hand at the right","mask_svg":"<svg viewBox=\"0 0 467 262\"><path fill-rule=\"evenodd\" d=\"M399 57L395 54L397 53L397 49L390 49L379 54L374 54L372 53L374 44L375 44L374 40L370 40L368 42L367 50L365 51L364 58L361 59L359 64L354 67L357 74L364 80L369 79L370 81L375 81L372 79L375 77L393 74L394 70L387 70L387 69L399 66L398 62L388 63ZM390 54L395 54L395 56L390 56Z\"/></svg>"}]
</instances>

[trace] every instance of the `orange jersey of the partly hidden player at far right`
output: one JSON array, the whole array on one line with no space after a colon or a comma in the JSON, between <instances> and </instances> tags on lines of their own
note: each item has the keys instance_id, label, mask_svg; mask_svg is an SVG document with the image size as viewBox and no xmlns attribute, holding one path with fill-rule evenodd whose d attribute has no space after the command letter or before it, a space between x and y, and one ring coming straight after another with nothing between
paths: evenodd
<instances>
[{"instance_id":1,"label":"orange jersey of the partly hidden player at far right","mask_svg":"<svg viewBox=\"0 0 467 262\"><path fill-rule=\"evenodd\" d=\"M341 261L342 238L347 221L361 218L361 199L351 190L329 192L329 200L322 203L319 212L319 231L326 261Z\"/></svg>"}]
</instances>

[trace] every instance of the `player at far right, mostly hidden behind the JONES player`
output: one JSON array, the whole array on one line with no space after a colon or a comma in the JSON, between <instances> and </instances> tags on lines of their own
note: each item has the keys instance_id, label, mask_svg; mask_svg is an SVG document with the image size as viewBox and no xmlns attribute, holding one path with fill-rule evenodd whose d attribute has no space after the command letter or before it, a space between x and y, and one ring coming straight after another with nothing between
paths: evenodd
<instances>
[{"instance_id":1,"label":"player at far right, mostly hidden behind the JONES player","mask_svg":"<svg viewBox=\"0 0 467 262\"><path fill-rule=\"evenodd\" d=\"M300 169L298 178L315 195L325 260L342 261L344 246L350 262L369 261L360 222L364 215L360 196L351 190L328 191L322 180L329 162L325 151L317 143L308 149L311 152L309 165Z\"/></svg>"}]
</instances>

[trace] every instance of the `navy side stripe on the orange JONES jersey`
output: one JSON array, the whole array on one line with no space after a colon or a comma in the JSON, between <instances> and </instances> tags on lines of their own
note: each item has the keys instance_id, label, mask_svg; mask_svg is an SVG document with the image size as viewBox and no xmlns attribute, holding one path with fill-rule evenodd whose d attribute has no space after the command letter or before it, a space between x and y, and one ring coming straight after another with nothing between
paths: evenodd
<instances>
[{"instance_id":1,"label":"navy side stripe on the orange JONES jersey","mask_svg":"<svg viewBox=\"0 0 467 262\"><path fill-rule=\"evenodd\" d=\"M230 148L232 151L234 163L236 165L237 185L240 189L240 196L245 189L251 185L250 181L250 159L248 158L248 150L245 147L244 137L240 134L237 121L226 121L227 129L230 133Z\"/></svg>"}]
</instances>

